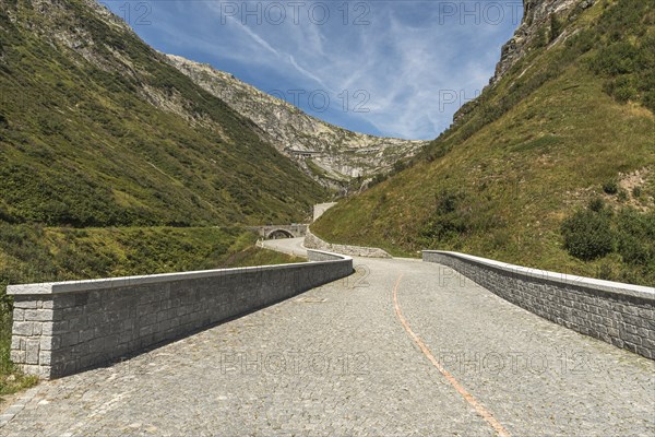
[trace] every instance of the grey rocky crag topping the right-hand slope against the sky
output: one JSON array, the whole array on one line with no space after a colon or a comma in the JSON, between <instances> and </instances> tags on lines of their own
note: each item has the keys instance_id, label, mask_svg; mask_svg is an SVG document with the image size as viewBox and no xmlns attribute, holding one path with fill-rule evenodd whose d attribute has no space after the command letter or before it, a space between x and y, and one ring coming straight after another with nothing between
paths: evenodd
<instances>
[{"instance_id":1,"label":"grey rocky crag topping the right-hand slope against the sky","mask_svg":"<svg viewBox=\"0 0 655 437\"><path fill-rule=\"evenodd\" d=\"M523 0L523 21L514 32L514 36L505 43L501 50L500 61L496 66L496 73L489 81L496 84L514 63L526 54L531 42L539 36L539 29L548 26L550 15L561 16L573 8L586 9L595 0Z\"/></svg>"}]
</instances>

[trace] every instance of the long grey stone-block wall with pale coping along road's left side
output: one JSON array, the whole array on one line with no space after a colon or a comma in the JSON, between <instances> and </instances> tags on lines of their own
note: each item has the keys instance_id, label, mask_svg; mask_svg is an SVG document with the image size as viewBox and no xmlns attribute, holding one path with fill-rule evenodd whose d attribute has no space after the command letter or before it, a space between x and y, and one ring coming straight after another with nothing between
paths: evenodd
<instances>
[{"instance_id":1,"label":"long grey stone-block wall with pale coping along road's left side","mask_svg":"<svg viewBox=\"0 0 655 437\"><path fill-rule=\"evenodd\" d=\"M10 285L11 359L41 378L74 374L353 272L352 258L308 256L318 262Z\"/></svg>"}]
</instances>

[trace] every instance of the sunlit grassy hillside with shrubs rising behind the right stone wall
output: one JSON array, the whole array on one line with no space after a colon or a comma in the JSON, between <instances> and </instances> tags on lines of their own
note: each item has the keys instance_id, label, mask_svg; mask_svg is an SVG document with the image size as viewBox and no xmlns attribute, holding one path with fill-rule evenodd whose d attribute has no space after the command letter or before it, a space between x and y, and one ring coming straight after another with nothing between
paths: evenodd
<instances>
[{"instance_id":1,"label":"sunlit grassy hillside with shrubs rising behind the right stone wall","mask_svg":"<svg viewBox=\"0 0 655 437\"><path fill-rule=\"evenodd\" d=\"M410 168L312 231L394 253L451 249L655 284L654 4L553 16Z\"/></svg>"}]
</instances>

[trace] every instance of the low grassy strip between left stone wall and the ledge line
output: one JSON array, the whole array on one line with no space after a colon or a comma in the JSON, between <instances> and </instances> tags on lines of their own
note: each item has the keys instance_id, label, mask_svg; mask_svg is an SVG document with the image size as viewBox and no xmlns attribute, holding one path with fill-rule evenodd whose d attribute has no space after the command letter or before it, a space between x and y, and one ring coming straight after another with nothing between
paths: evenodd
<instances>
[{"instance_id":1,"label":"low grassy strip between left stone wall and the ledge line","mask_svg":"<svg viewBox=\"0 0 655 437\"><path fill-rule=\"evenodd\" d=\"M300 262L240 227L62 228L0 223L0 397L35 382L9 359L7 284Z\"/></svg>"}]
</instances>

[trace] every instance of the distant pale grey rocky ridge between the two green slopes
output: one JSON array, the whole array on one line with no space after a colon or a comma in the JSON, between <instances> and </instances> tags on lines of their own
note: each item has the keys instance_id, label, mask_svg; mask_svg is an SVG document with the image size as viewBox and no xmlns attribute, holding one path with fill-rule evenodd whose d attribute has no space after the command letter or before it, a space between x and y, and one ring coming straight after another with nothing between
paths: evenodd
<instances>
[{"instance_id":1,"label":"distant pale grey rocky ridge between the two green slopes","mask_svg":"<svg viewBox=\"0 0 655 437\"><path fill-rule=\"evenodd\" d=\"M196 84L251 119L265 140L295 158L306 173L332 188L342 188L354 178L386 173L398 160L416 154L428 143L352 132L311 117L209 64L167 57Z\"/></svg>"}]
</instances>

